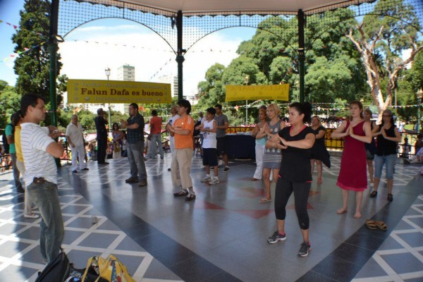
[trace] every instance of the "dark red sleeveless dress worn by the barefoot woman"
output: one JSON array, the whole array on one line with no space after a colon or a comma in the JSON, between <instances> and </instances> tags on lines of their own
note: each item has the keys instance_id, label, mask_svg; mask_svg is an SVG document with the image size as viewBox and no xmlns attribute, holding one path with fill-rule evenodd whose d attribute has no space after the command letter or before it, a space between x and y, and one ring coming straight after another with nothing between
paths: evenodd
<instances>
[{"instance_id":1,"label":"dark red sleeveless dress worn by the barefoot woman","mask_svg":"<svg viewBox=\"0 0 423 282\"><path fill-rule=\"evenodd\" d=\"M364 121L353 127L355 135L366 135L363 130L363 125ZM347 121L345 130L347 130L349 126L350 121ZM363 191L367 189L367 161L364 142L350 135L344 137L341 170L339 171L336 185L345 190Z\"/></svg>"}]
</instances>

